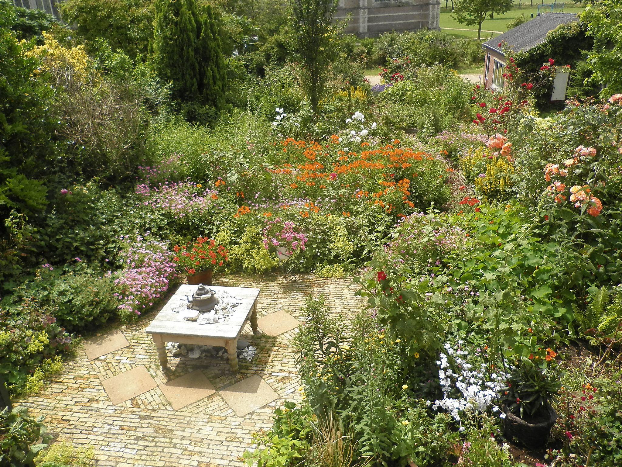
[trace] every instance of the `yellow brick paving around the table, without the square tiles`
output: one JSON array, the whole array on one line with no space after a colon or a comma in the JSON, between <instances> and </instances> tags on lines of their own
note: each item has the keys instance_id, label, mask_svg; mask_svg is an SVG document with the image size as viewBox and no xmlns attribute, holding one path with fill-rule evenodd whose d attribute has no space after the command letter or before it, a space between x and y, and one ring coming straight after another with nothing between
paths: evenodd
<instances>
[{"instance_id":1,"label":"yellow brick paving around the table, without the square tiles","mask_svg":"<svg viewBox=\"0 0 622 467\"><path fill-rule=\"evenodd\" d=\"M324 293L333 313L353 314L363 307L350 280L299 276L297 281L230 276L215 285L261 288L258 314L285 311L300 317L305 296ZM58 440L95 448L96 466L225 466L241 463L238 456L251 446L252 433L271 426L276 405L300 400L299 378L291 346L296 330L276 337L253 336L247 324L241 339L258 348L256 359L240 359L239 373L231 373L228 361L217 357L190 359L170 357L172 378L200 370L216 392L179 410L173 410L159 387L113 405L102 380L144 366L157 384L166 381L156 346L144 329L156 316L153 311L136 324L120 329L129 346L92 361L83 347L67 362L62 374L38 395L16 401L33 415L45 415L45 424L59 433ZM259 326L261 329L261 325ZM112 333L112 329L109 332ZM238 417L220 391L253 375L261 377L278 399L244 417ZM255 376L256 379L258 379Z\"/></svg>"}]
</instances>

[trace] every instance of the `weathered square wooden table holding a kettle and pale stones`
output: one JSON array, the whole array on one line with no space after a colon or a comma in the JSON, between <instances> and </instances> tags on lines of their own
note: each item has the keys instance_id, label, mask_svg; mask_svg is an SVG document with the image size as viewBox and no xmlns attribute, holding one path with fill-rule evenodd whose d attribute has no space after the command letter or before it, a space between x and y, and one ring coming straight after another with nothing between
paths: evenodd
<instances>
[{"instance_id":1,"label":"weathered square wooden table holding a kettle and pale stones","mask_svg":"<svg viewBox=\"0 0 622 467\"><path fill-rule=\"evenodd\" d=\"M238 337L249 318L251 319L253 333L257 333L259 289L210 285L209 287L216 292L216 296L218 296L219 291L226 291L241 300L242 303L238 304L233 313L221 323L198 324L196 321L185 321L183 319L184 316L196 313L195 311L187 310L180 311L180 313L173 311L181 303L187 303L185 295L192 296L197 287L197 285L180 286L145 330L147 334L151 334L154 342L156 342L157 356L162 369L165 370L168 366L166 342L178 342L179 344L226 347L231 370L237 372Z\"/></svg>"}]
</instances>

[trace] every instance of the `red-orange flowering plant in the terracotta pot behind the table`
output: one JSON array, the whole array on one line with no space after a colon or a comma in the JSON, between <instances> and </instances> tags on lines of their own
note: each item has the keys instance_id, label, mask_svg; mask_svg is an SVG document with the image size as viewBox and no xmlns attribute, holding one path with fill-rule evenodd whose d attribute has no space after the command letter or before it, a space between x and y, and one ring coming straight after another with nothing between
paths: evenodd
<instances>
[{"instance_id":1,"label":"red-orange flowering plant in the terracotta pot behind the table","mask_svg":"<svg viewBox=\"0 0 622 467\"><path fill-rule=\"evenodd\" d=\"M187 274L196 274L207 270L216 270L228 260L228 251L223 245L216 245L216 240L198 237L190 243L175 245L173 261Z\"/></svg>"}]
</instances>

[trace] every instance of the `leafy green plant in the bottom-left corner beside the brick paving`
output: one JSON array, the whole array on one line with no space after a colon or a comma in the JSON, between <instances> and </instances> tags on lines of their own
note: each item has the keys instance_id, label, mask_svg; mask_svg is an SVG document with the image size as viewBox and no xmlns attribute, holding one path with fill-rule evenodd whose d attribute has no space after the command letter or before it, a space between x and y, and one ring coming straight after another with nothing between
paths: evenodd
<instances>
[{"instance_id":1,"label":"leafy green plant in the bottom-left corner beside the brick paving","mask_svg":"<svg viewBox=\"0 0 622 467\"><path fill-rule=\"evenodd\" d=\"M43 415L30 417L26 407L0 412L0 463L3 466L32 465L35 455L50 440L42 423L44 418ZM43 438L41 443L39 438Z\"/></svg>"}]
</instances>

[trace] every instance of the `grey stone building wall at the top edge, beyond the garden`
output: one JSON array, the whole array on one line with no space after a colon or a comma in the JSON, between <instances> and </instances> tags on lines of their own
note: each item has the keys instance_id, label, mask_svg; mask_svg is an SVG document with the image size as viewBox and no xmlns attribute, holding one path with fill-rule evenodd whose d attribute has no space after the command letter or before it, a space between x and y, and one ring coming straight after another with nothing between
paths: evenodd
<instances>
[{"instance_id":1,"label":"grey stone building wall at the top edge, beyond the garden","mask_svg":"<svg viewBox=\"0 0 622 467\"><path fill-rule=\"evenodd\" d=\"M345 32L373 37L390 31L439 29L439 0L339 0L336 19L347 19Z\"/></svg>"}]
</instances>

